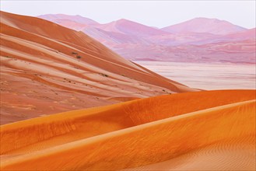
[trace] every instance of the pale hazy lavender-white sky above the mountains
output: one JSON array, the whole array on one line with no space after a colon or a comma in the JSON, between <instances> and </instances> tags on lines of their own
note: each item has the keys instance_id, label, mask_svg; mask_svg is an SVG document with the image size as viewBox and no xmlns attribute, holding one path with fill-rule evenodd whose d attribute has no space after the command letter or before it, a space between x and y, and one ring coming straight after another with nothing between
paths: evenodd
<instances>
[{"instance_id":1,"label":"pale hazy lavender-white sky above the mountains","mask_svg":"<svg viewBox=\"0 0 256 171\"><path fill-rule=\"evenodd\" d=\"M255 27L255 0L240 1L12 1L1 0L1 10L26 16L63 13L98 23L129 19L147 26L164 27L195 17L217 18Z\"/></svg>"}]
</instances>

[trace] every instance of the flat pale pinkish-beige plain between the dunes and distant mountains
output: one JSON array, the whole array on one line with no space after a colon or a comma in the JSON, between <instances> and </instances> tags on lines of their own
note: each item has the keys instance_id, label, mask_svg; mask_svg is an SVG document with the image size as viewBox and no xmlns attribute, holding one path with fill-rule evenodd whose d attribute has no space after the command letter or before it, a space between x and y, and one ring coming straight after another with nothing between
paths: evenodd
<instances>
[{"instance_id":1,"label":"flat pale pinkish-beige plain between the dunes and distant mountains","mask_svg":"<svg viewBox=\"0 0 256 171\"><path fill-rule=\"evenodd\" d=\"M153 72L198 89L256 89L256 66L250 64L135 61Z\"/></svg>"}]
</instances>

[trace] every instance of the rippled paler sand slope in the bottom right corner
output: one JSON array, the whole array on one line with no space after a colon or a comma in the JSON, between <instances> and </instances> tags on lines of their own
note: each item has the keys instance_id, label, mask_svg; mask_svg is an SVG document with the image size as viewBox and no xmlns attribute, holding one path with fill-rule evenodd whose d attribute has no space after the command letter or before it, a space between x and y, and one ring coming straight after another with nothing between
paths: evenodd
<instances>
[{"instance_id":1,"label":"rippled paler sand slope in the bottom right corner","mask_svg":"<svg viewBox=\"0 0 256 171\"><path fill-rule=\"evenodd\" d=\"M213 145L148 166L122 170L255 170L254 134L229 138Z\"/></svg>"}]
</instances>

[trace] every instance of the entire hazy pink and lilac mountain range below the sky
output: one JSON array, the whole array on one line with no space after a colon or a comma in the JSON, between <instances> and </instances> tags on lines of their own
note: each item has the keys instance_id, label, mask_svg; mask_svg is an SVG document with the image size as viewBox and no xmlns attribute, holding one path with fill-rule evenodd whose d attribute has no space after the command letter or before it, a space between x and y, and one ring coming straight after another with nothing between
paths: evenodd
<instances>
[{"instance_id":1,"label":"entire hazy pink and lilac mountain range below the sky","mask_svg":"<svg viewBox=\"0 0 256 171\"><path fill-rule=\"evenodd\" d=\"M256 30L195 18L157 29L128 19L100 24L82 16L38 16L82 31L129 60L255 63Z\"/></svg>"}]
</instances>

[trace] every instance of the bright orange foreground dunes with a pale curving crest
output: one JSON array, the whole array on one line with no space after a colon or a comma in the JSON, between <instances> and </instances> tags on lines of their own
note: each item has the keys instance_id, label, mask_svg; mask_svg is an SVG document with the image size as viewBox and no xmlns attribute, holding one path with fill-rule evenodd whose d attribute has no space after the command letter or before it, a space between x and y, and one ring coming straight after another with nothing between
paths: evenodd
<instances>
[{"instance_id":1,"label":"bright orange foreground dunes with a pale curving crest","mask_svg":"<svg viewBox=\"0 0 256 171\"><path fill-rule=\"evenodd\" d=\"M1 126L3 170L254 170L255 90L184 92Z\"/></svg>"}]
</instances>

